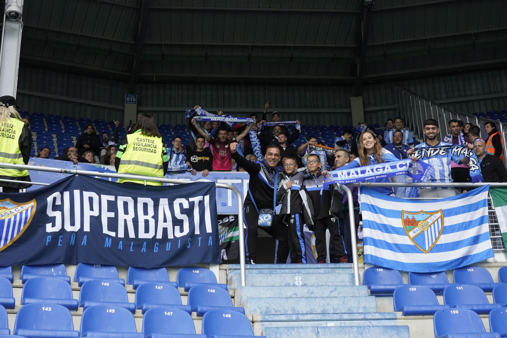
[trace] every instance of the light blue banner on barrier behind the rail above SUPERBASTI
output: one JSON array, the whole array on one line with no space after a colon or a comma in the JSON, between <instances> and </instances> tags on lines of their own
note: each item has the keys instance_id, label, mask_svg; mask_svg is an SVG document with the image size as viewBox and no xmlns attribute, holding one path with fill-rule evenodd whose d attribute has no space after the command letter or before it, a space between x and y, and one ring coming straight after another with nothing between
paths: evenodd
<instances>
[{"instance_id":1,"label":"light blue banner on barrier behind the rail above SUPERBASTI","mask_svg":"<svg viewBox=\"0 0 507 338\"><path fill-rule=\"evenodd\" d=\"M91 163L79 163L78 165L74 165L73 162L70 161L58 161L52 159L45 158L37 158L30 157L29 165L38 165L38 166L48 166L55 168L66 168L66 169L77 169L77 170L87 170L92 172L101 172L101 173L115 173L115 167L112 165L102 165L102 164L91 164ZM30 179L32 182L41 182L41 183L53 183L62 178L68 177L69 174L64 173L50 173L50 172L39 172L39 171L28 171L30 174ZM117 179L109 178L109 177L99 177L101 180L116 182ZM203 178L200 173L197 173L196 176L192 175L190 172L167 172L165 174L165 178L168 179L176 179L176 180L184 180L184 181L202 181L202 182L215 182L215 183L227 183L235 186L244 200L245 194L248 193L248 182L250 176L248 173L244 172L209 172L208 176ZM173 185L172 183L164 183L164 186ZM42 185L32 185L28 188L28 191L40 189ZM216 189L216 208L219 214L237 214L238 213L238 202L235 195L232 193L232 190L217 188Z\"/></svg>"}]
</instances>

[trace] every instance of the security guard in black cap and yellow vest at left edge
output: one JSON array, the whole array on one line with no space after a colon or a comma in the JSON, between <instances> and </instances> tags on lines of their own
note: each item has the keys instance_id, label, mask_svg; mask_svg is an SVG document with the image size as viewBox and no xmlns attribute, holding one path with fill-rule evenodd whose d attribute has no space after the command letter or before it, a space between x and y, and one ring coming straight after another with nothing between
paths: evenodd
<instances>
[{"instance_id":1,"label":"security guard in black cap and yellow vest at left edge","mask_svg":"<svg viewBox=\"0 0 507 338\"><path fill-rule=\"evenodd\" d=\"M0 162L27 164L31 146L30 130L16 111L16 99L12 96L0 97ZM0 179L20 181L0 181L3 192L19 192L31 186L21 183L30 182L28 171L24 169L0 167Z\"/></svg>"}]
</instances>

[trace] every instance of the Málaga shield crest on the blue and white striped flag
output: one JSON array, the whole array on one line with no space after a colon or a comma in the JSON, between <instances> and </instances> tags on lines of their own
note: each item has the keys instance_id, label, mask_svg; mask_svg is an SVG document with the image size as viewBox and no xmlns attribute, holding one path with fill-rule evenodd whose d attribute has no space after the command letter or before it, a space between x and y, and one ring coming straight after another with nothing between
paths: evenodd
<instances>
[{"instance_id":1,"label":"M\u00e1laga shield crest on the blue and white striped flag","mask_svg":"<svg viewBox=\"0 0 507 338\"><path fill-rule=\"evenodd\" d=\"M428 253L437 244L444 228L442 209L433 213L409 213L404 210L402 221L409 239L424 253Z\"/></svg>"}]
</instances>

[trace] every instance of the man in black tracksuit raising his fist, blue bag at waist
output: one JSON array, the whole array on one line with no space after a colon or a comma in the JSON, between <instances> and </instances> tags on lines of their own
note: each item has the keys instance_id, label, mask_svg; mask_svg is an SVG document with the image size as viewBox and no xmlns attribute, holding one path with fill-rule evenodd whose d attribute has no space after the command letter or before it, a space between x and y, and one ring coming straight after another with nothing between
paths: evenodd
<instances>
[{"instance_id":1,"label":"man in black tracksuit raising his fist, blue bag at waist","mask_svg":"<svg viewBox=\"0 0 507 338\"><path fill-rule=\"evenodd\" d=\"M236 152L238 144L230 144L231 157L236 160L238 166L242 167L249 175L249 193L245 196L243 204L244 222L246 224L245 253L250 264L256 263L257 257L257 232L259 228L259 210L273 209L273 197L276 193L275 174L276 165L280 160L278 146L268 146L264 161L261 163L247 160ZM281 180L281 175L279 176ZM250 197L250 192L253 197ZM255 202L255 204L254 204ZM288 257L287 227L282 224L278 217L274 217L270 227L263 227L263 230L278 240L276 255L277 263L285 263Z\"/></svg>"}]
</instances>

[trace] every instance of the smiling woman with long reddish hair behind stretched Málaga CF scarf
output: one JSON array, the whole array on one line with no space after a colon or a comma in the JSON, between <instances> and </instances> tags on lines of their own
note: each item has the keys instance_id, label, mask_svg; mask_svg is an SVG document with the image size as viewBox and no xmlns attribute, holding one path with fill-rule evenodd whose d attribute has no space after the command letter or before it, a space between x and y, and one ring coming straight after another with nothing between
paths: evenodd
<instances>
[{"instance_id":1,"label":"smiling woman with long reddish hair behind stretched M\u00e1laga CF scarf","mask_svg":"<svg viewBox=\"0 0 507 338\"><path fill-rule=\"evenodd\" d=\"M357 168L360 166L374 165L385 162L399 161L390 151L382 148L379 140L375 133L371 130L365 130L361 132L358 138L358 149L359 156L354 158L349 164L340 167L338 170L347 170ZM417 160L415 157L413 160ZM368 182L379 182L379 183L391 183L389 178L383 177L378 179L372 179ZM394 190L391 187L373 187L374 190L386 194L393 195Z\"/></svg>"}]
</instances>

